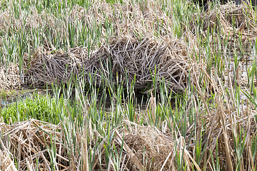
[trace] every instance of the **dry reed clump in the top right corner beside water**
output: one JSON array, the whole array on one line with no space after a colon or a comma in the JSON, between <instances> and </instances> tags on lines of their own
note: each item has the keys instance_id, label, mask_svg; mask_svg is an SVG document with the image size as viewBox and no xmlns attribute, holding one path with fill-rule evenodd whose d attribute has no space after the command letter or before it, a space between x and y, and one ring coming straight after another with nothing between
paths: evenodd
<instances>
[{"instance_id":1,"label":"dry reed clump in the top right corner beside water","mask_svg":"<svg viewBox=\"0 0 257 171\"><path fill-rule=\"evenodd\" d=\"M256 12L251 6L241 4L236 6L233 2L225 5L214 6L209 11L201 14L203 19L203 32L207 36L208 28L218 28L222 36L231 36L239 38L242 35L242 41L253 41L256 38L257 23ZM193 30L197 26L196 20L192 21Z\"/></svg>"}]
</instances>

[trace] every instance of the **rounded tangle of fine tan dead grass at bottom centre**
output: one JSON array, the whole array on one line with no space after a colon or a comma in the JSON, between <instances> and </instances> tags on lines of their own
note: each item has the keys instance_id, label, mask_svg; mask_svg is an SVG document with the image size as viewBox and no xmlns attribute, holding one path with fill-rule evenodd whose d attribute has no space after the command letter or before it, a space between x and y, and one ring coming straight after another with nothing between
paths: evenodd
<instances>
[{"instance_id":1,"label":"rounded tangle of fine tan dead grass at bottom centre","mask_svg":"<svg viewBox=\"0 0 257 171\"><path fill-rule=\"evenodd\" d=\"M174 155L177 149L173 140L157 128L137 125L128 120L124 120L124 123L129 126L129 131L125 131L124 142L123 133L117 130L114 138L114 145L119 152L123 143L121 170L173 170L176 167ZM104 155L101 160L104 160ZM95 163L94 167L98 170L100 163Z\"/></svg>"}]
</instances>

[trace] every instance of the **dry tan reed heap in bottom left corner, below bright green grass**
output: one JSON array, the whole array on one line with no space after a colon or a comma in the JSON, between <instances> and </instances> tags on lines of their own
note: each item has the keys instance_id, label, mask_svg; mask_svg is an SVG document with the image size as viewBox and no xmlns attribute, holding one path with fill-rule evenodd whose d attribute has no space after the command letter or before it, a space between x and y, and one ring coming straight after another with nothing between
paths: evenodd
<instances>
[{"instance_id":1,"label":"dry tan reed heap in bottom left corner, below bright green grass","mask_svg":"<svg viewBox=\"0 0 257 171\"><path fill-rule=\"evenodd\" d=\"M40 120L27 120L13 125L1 123L1 169L7 165L13 168L14 162L19 170L34 170L34 168L51 170L53 167L58 167L60 170L67 169L68 153L60 143L60 129L60 125L44 123ZM54 152L51 151L53 142L55 149L58 150L56 154L58 166L52 166L49 158ZM9 155L11 159L8 158ZM7 162L4 162L6 160Z\"/></svg>"}]
</instances>

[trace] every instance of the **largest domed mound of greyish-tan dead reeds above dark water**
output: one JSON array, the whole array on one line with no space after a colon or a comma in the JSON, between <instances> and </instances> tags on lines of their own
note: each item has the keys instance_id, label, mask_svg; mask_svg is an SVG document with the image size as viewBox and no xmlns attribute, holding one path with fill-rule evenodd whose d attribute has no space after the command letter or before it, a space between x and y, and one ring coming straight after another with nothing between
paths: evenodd
<instances>
[{"instance_id":1,"label":"largest domed mound of greyish-tan dead reeds above dark water","mask_svg":"<svg viewBox=\"0 0 257 171\"><path fill-rule=\"evenodd\" d=\"M106 63L110 58L111 71L107 67L104 71L109 71L114 76L117 73L122 78L126 78L127 74L129 83L136 75L135 88L137 89L143 90L151 85L156 70L157 80L161 81L161 78L164 78L168 88L181 90L186 88L189 69L188 53L190 50L186 49L186 45L178 38L161 41L144 37L138 41L131 37L114 37L91 58L99 58ZM103 73L106 73L104 71ZM110 73L106 73L108 74Z\"/></svg>"}]
</instances>

